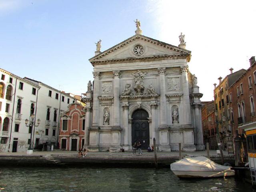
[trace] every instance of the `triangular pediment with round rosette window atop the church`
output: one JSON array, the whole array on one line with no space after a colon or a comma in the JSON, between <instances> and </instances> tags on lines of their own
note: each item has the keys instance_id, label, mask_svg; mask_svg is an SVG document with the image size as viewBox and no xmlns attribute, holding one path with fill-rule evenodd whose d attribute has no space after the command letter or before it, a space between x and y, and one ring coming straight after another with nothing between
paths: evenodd
<instances>
[{"instance_id":1,"label":"triangular pediment with round rosette window atop the church","mask_svg":"<svg viewBox=\"0 0 256 192\"><path fill-rule=\"evenodd\" d=\"M159 56L189 56L190 51L143 35L136 34L123 42L89 59L95 62L129 60Z\"/></svg>"}]
</instances>

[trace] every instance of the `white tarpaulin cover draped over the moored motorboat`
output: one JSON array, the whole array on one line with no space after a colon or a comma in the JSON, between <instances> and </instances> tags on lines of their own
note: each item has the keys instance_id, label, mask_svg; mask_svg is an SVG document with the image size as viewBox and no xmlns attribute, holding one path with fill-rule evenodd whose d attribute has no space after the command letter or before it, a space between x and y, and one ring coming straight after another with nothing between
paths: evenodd
<instances>
[{"instance_id":1,"label":"white tarpaulin cover draped over the moored motorboat","mask_svg":"<svg viewBox=\"0 0 256 192\"><path fill-rule=\"evenodd\" d=\"M172 171L224 171L230 168L216 164L204 156L183 158L171 164Z\"/></svg>"}]
</instances>

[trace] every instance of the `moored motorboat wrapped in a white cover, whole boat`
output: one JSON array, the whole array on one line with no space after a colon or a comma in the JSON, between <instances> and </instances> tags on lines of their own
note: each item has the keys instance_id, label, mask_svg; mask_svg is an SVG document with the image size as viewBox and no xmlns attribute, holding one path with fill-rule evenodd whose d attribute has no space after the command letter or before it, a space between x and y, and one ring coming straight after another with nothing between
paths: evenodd
<instances>
[{"instance_id":1,"label":"moored motorboat wrapped in a white cover, whole boat","mask_svg":"<svg viewBox=\"0 0 256 192\"><path fill-rule=\"evenodd\" d=\"M212 178L235 175L230 166L216 164L204 156L178 160L171 164L171 170L179 178Z\"/></svg>"}]
</instances>

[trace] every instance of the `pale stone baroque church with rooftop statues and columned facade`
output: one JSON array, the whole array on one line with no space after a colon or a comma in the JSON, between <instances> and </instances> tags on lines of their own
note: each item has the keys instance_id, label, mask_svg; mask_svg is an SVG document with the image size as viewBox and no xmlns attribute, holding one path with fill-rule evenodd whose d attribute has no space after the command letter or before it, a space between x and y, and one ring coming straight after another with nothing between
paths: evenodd
<instances>
[{"instance_id":1,"label":"pale stone baroque church with rooftop statues and columned facade","mask_svg":"<svg viewBox=\"0 0 256 192\"><path fill-rule=\"evenodd\" d=\"M90 151L142 148L204 150L201 102L197 78L188 69L191 52L184 35L173 46L142 35L136 20L135 35L101 52L96 43L93 88L86 98L84 146Z\"/></svg>"}]
</instances>

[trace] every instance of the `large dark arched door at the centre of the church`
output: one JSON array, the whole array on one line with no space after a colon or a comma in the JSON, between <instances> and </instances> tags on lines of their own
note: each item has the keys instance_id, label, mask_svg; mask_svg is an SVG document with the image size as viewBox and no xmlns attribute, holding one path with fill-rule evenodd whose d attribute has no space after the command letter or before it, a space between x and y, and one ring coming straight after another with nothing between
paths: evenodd
<instances>
[{"instance_id":1,"label":"large dark arched door at the centre of the church","mask_svg":"<svg viewBox=\"0 0 256 192\"><path fill-rule=\"evenodd\" d=\"M149 146L148 112L138 109L132 114L132 144L140 141L142 149Z\"/></svg>"}]
</instances>

